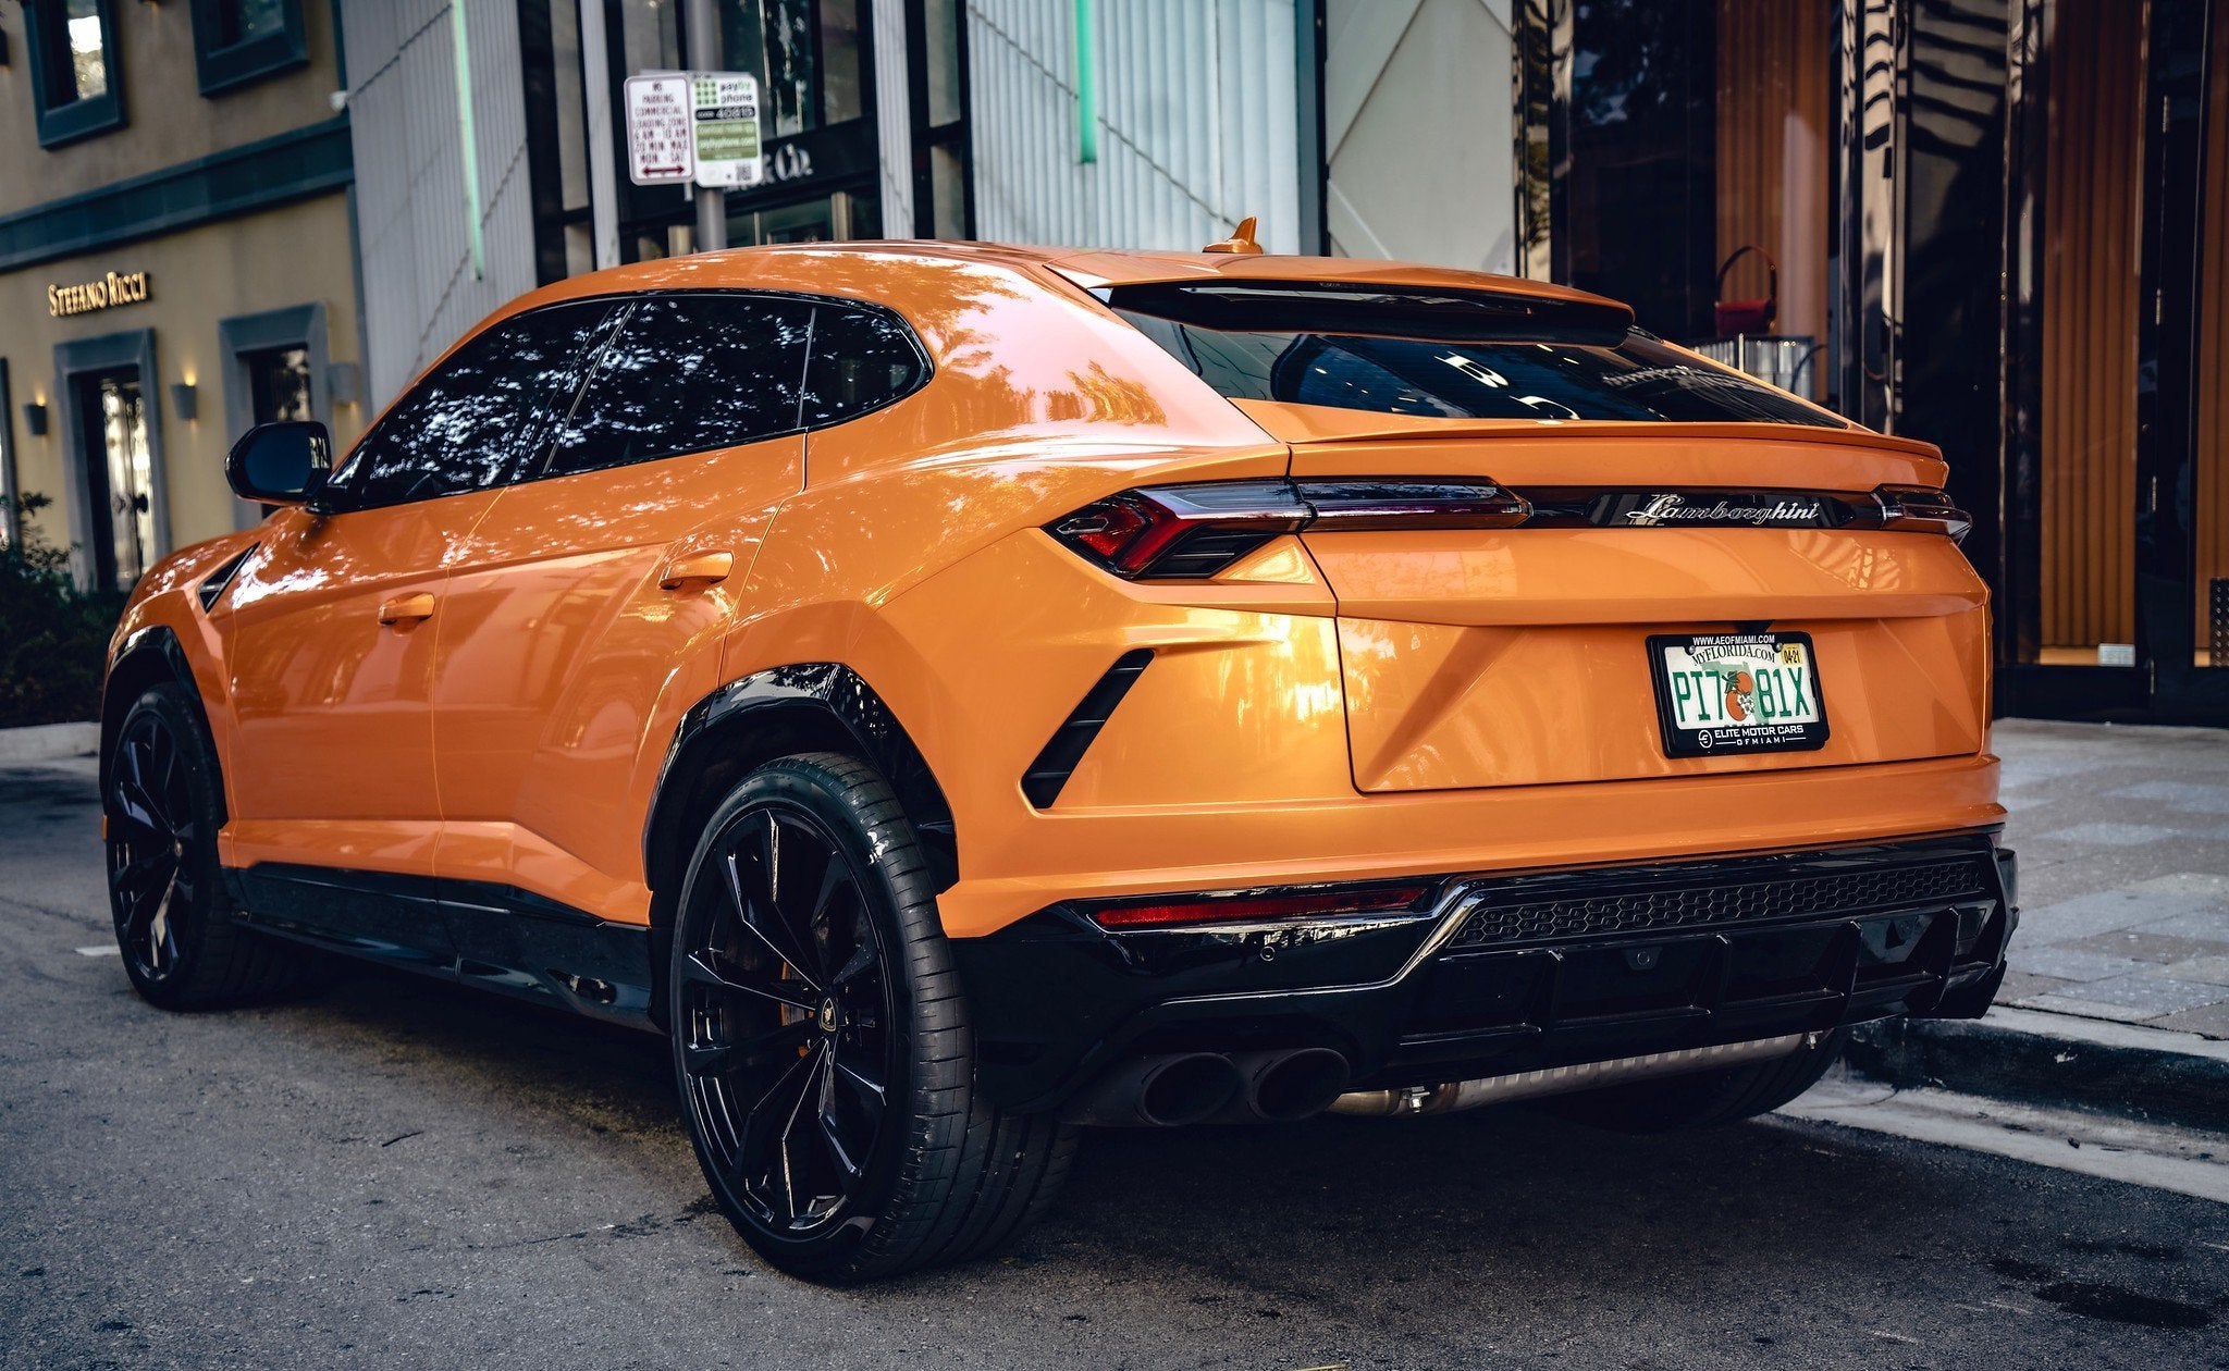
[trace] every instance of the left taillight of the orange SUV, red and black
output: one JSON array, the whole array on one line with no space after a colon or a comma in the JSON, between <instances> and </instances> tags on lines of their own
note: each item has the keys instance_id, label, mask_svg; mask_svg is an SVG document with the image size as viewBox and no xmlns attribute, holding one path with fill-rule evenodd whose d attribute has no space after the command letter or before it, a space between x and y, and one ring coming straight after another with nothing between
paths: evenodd
<instances>
[{"instance_id":1,"label":"left taillight of the orange SUV, red and black","mask_svg":"<svg viewBox=\"0 0 2229 1371\"><path fill-rule=\"evenodd\" d=\"M1206 580L1302 528L1509 528L1531 506L1491 482L1340 479L1141 486L1045 526L1132 580Z\"/></svg>"}]
</instances>

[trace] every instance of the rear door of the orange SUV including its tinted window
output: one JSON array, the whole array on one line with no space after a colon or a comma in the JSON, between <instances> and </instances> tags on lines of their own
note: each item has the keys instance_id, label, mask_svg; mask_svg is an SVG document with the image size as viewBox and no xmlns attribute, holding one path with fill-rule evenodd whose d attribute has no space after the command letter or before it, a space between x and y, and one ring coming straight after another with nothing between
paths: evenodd
<instances>
[{"instance_id":1,"label":"rear door of the orange SUV including its tinted window","mask_svg":"<svg viewBox=\"0 0 2229 1371\"><path fill-rule=\"evenodd\" d=\"M805 482L811 319L811 301L789 296L637 299L542 468L479 522L435 664L439 869L455 901L477 883L649 918L646 751L718 687L736 593ZM506 896L486 898L499 910Z\"/></svg>"}]
</instances>

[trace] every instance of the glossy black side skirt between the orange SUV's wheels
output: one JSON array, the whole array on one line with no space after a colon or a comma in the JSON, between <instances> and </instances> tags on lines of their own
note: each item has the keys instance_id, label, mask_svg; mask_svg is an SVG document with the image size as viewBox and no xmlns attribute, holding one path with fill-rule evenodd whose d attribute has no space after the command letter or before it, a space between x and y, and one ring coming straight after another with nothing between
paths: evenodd
<instances>
[{"instance_id":1,"label":"glossy black side skirt between the orange SUV's wheels","mask_svg":"<svg viewBox=\"0 0 2229 1371\"><path fill-rule=\"evenodd\" d=\"M256 863L225 883L250 927L658 1032L644 925L484 881Z\"/></svg>"}]
</instances>

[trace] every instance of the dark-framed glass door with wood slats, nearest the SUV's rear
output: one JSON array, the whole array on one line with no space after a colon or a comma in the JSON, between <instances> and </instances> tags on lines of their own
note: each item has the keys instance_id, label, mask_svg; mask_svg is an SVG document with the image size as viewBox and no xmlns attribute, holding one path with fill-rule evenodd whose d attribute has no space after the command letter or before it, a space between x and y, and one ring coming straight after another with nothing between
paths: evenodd
<instances>
[{"instance_id":1,"label":"dark-framed glass door with wood slats, nearest the SUV's rear","mask_svg":"<svg viewBox=\"0 0 2229 1371\"><path fill-rule=\"evenodd\" d=\"M1999 713L2149 711L2149 9L2008 11Z\"/></svg>"}]
</instances>

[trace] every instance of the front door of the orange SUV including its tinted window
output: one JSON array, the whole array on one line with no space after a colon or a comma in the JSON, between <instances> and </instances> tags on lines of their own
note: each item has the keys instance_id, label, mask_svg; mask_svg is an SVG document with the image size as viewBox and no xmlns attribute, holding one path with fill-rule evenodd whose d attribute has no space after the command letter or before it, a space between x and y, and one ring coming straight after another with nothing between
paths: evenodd
<instances>
[{"instance_id":1,"label":"front door of the orange SUV including its tinted window","mask_svg":"<svg viewBox=\"0 0 2229 1371\"><path fill-rule=\"evenodd\" d=\"M330 892L361 883L330 872L432 874L441 593L502 482L571 401L611 312L564 305L466 341L366 435L319 502L330 508L265 524L216 604L234 711L225 863L328 889L265 892L267 905L439 943L430 905L415 930L372 927L386 914L348 914Z\"/></svg>"}]
</instances>

